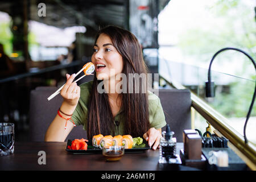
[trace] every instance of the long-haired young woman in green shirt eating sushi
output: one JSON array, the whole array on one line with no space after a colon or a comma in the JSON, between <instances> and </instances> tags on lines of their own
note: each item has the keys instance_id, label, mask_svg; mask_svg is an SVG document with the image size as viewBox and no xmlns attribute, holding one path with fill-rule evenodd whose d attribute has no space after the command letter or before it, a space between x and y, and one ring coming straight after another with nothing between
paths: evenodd
<instances>
[{"instance_id":1,"label":"long-haired young woman in green shirt eating sushi","mask_svg":"<svg viewBox=\"0 0 256 182\"><path fill-rule=\"evenodd\" d=\"M143 136L155 150L166 121L159 98L150 91L143 92L144 81L139 92L135 92L138 83L129 77L147 73L137 38L127 30L108 26L98 32L93 51L94 80L77 86L72 83L74 76L67 75L67 83L60 92L64 98L61 114L65 118L72 115L76 125L83 125L88 139L98 134ZM124 88L127 92L120 92ZM68 121L66 130L64 126L65 119L57 114L45 140L64 141L73 123Z\"/></svg>"}]
</instances>

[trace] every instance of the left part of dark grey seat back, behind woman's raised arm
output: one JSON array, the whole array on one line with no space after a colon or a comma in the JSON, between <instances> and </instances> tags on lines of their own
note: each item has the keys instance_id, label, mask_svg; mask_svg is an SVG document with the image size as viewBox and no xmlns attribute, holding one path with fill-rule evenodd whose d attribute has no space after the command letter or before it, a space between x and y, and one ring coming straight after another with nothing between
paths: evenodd
<instances>
[{"instance_id":1,"label":"left part of dark grey seat back, behind woman's raised arm","mask_svg":"<svg viewBox=\"0 0 256 182\"><path fill-rule=\"evenodd\" d=\"M32 141L44 141L44 135L63 102L60 94L50 101L47 100L56 90L56 87L38 87L30 93L30 139ZM67 137L67 139L74 138L86 138L86 131L82 130L82 126L74 127Z\"/></svg>"}]
</instances>

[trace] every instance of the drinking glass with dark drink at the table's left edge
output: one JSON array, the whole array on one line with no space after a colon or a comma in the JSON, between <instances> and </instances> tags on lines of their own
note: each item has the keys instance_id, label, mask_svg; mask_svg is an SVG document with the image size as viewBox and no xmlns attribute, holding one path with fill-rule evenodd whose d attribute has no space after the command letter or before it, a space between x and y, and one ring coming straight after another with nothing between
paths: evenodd
<instances>
[{"instance_id":1,"label":"drinking glass with dark drink at the table's left edge","mask_svg":"<svg viewBox=\"0 0 256 182\"><path fill-rule=\"evenodd\" d=\"M14 123L0 123L0 156L14 152Z\"/></svg>"}]
</instances>

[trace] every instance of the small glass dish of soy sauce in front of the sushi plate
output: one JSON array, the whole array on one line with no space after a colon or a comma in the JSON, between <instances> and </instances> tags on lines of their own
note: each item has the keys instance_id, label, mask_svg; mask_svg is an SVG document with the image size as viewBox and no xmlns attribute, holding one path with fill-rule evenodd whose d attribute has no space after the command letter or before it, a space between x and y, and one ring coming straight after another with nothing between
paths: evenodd
<instances>
[{"instance_id":1,"label":"small glass dish of soy sauce in front of the sushi plate","mask_svg":"<svg viewBox=\"0 0 256 182\"><path fill-rule=\"evenodd\" d=\"M107 161L117 161L120 160L125 154L124 146L110 146L102 148L102 155L105 156Z\"/></svg>"}]
</instances>

